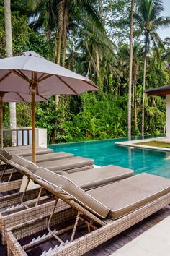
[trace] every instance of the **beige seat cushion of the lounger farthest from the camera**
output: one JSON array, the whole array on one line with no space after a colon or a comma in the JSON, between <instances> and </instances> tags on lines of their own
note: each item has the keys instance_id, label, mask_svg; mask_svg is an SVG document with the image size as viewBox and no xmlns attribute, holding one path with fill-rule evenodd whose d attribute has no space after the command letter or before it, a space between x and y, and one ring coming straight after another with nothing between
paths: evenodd
<instances>
[{"instance_id":1,"label":"beige seat cushion of the lounger farthest from the camera","mask_svg":"<svg viewBox=\"0 0 170 256\"><path fill-rule=\"evenodd\" d=\"M53 153L53 150L49 148L37 147L35 150L36 150L36 155ZM29 156L29 155L32 155L32 148L23 149L23 150L9 150L9 153L12 155Z\"/></svg>"}]
</instances>

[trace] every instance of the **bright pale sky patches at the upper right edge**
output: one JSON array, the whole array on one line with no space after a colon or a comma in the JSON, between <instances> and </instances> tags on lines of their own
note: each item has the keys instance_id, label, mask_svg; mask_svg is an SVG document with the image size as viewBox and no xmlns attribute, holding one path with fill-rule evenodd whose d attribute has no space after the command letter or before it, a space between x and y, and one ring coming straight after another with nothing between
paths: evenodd
<instances>
[{"instance_id":1,"label":"bright pale sky patches at the upper right edge","mask_svg":"<svg viewBox=\"0 0 170 256\"><path fill-rule=\"evenodd\" d=\"M169 16L170 17L170 0L162 0L164 5L164 11L161 13L161 16ZM161 36L162 39L166 37L170 37L170 26L168 28L158 30L158 35Z\"/></svg>"}]
</instances>

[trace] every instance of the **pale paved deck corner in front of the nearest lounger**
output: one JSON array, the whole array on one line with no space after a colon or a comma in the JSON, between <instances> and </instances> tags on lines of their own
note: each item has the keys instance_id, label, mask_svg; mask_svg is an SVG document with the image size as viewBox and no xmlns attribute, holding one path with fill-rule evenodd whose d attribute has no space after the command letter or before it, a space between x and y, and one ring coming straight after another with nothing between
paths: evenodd
<instances>
[{"instance_id":1,"label":"pale paved deck corner in front of the nearest lounger","mask_svg":"<svg viewBox=\"0 0 170 256\"><path fill-rule=\"evenodd\" d=\"M140 234L112 256L169 256L170 216L160 221L148 231Z\"/></svg>"}]
</instances>

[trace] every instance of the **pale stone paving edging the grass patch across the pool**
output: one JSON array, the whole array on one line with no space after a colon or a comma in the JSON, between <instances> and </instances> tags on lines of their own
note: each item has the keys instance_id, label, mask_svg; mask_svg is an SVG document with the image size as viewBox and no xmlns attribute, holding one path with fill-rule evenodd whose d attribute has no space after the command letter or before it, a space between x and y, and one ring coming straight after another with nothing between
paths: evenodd
<instances>
[{"instance_id":1,"label":"pale stone paving edging the grass patch across the pool","mask_svg":"<svg viewBox=\"0 0 170 256\"><path fill-rule=\"evenodd\" d=\"M159 150L159 151L170 152L170 148L160 148L160 147L152 147L152 146L148 146L148 145L136 144L136 143L140 143L140 142L150 142L150 141L170 143L170 138L157 137L157 138L143 139L143 140L128 140L128 141L124 141L124 142L115 142L115 145L131 147L131 148L143 148L143 149L148 149L148 150ZM169 146L170 146L170 144L169 144Z\"/></svg>"}]
</instances>

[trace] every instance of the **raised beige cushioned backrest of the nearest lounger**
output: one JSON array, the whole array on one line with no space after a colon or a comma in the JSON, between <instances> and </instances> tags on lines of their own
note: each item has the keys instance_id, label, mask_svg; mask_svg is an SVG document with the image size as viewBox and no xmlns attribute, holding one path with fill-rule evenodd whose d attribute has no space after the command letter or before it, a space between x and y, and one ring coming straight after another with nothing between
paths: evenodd
<instances>
[{"instance_id":1,"label":"raised beige cushioned backrest of the nearest lounger","mask_svg":"<svg viewBox=\"0 0 170 256\"><path fill-rule=\"evenodd\" d=\"M55 174L45 168L38 168L30 178L68 204L69 200L75 200L84 208L102 218L106 218L109 213L109 208L102 205L102 203L95 200L94 197L88 195L83 189L64 176Z\"/></svg>"}]
</instances>

